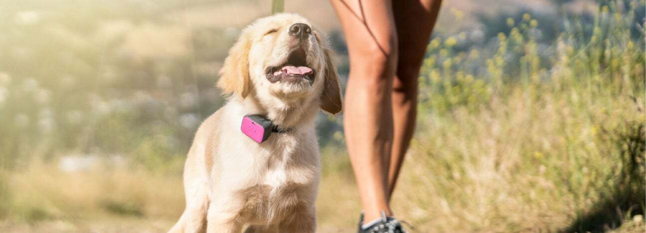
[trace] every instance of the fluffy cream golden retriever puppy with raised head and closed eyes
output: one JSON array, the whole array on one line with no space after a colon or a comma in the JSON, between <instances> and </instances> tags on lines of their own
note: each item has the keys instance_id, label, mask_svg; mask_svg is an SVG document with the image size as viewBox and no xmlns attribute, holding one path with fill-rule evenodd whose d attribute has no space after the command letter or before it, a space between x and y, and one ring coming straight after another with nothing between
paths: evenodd
<instances>
[{"instance_id":1,"label":"fluffy cream golden retriever puppy with raised head and closed eyes","mask_svg":"<svg viewBox=\"0 0 646 233\"><path fill-rule=\"evenodd\" d=\"M339 76L319 32L295 14L258 19L220 70L227 103L198 129L184 167L186 209L170 232L315 232L315 118L337 114ZM243 118L271 121L258 143Z\"/></svg>"}]
</instances>

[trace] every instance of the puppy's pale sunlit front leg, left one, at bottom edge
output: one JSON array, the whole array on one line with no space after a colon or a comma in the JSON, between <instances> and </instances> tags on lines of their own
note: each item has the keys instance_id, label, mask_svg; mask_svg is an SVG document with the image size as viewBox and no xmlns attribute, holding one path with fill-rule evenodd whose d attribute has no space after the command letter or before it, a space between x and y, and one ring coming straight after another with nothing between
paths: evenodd
<instances>
[{"instance_id":1,"label":"puppy's pale sunlit front leg, left one, at bottom edge","mask_svg":"<svg viewBox=\"0 0 646 233\"><path fill-rule=\"evenodd\" d=\"M207 214L207 233L240 233L242 223L237 219L238 213L223 211L216 205L209 206Z\"/></svg>"}]
</instances>

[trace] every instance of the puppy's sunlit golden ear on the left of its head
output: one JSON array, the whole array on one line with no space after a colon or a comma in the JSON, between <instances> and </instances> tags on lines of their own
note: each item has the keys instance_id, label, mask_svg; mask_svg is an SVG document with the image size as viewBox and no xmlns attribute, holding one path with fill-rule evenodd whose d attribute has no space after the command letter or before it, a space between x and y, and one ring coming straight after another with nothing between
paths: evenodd
<instances>
[{"instance_id":1,"label":"puppy's sunlit golden ear on the left of its head","mask_svg":"<svg viewBox=\"0 0 646 233\"><path fill-rule=\"evenodd\" d=\"M218 87L223 94L240 94L242 98L247 97L251 86L249 77L249 50L251 39L243 32L238 42L229 50L229 56L224 59L224 65L220 69L220 80Z\"/></svg>"}]
</instances>

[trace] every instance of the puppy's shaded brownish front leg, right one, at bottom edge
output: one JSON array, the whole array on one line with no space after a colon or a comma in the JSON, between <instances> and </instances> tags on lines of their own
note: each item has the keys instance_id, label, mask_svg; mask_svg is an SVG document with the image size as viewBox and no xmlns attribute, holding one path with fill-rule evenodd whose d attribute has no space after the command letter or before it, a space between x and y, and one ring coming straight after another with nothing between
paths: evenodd
<instances>
[{"instance_id":1,"label":"puppy's shaded brownish front leg, right one, at bottom edge","mask_svg":"<svg viewBox=\"0 0 646 233\"><path fill-rule=\"evenodd\" d=\"M298 205L278 227L283 233L315 233L317 231L317 211L313 204Z\"/></svg>"}]
</instances>

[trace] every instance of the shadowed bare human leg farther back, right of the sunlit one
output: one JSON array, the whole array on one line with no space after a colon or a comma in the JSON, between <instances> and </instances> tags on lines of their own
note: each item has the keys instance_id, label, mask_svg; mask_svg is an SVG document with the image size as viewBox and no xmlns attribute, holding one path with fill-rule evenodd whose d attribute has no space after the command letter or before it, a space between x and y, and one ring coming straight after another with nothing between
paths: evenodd
<instances>
[{"instance_id":1,"label":"shadowed bare human leg farther back, right of the sunlit one","mask_svg":"<svg viewBox=\"0 0 646 233\"><path fill-rule=\"evenodd\" d=\"M391 94L394 135L388 170L389 198L395 190L404 155L413 137L417 116L417 77L441 3L442 0L393 1L399 59Z\"/></svg>"}]
</instances>

